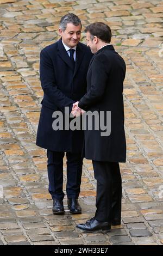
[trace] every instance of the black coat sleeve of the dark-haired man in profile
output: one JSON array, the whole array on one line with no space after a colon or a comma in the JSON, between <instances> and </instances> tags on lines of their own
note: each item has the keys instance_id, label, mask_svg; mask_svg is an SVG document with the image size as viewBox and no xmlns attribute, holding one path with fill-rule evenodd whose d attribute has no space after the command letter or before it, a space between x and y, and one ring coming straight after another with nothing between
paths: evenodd
<instances>
[{"instance_id":1,"label":"black coat sleeve of the dark-haired man in profile","mask_svg":"<svg viewBox=\"0 0 163 256\"><path fill-rule=\"evenodd\" d=\"M91 64L91 86L78 103L78 106L84 110L98 103L104 95L109 72L105 58L104 54L101 54L95 57Z\"/></svg>"}]
</instances>

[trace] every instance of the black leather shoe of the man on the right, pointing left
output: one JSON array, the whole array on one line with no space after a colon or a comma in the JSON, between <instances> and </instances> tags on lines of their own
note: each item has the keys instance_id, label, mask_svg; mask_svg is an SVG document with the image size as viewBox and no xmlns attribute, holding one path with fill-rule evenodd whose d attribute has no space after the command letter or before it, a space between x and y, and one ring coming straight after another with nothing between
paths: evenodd
<instances>
[{"instance_id":1,"label":"black leather shoe of the man on the right, pointing left","mask_svg":"<svg viewBox=\"0 0 163 256\"><path fill-rule=\"evenodd\" d=\"M106 230L108 232L111 229L109 222L97 221L95 217L91 218L89 221L86 221L84 224L78 224L77 228L83 229L85 231Z\"/></svg>"}]
</instances>

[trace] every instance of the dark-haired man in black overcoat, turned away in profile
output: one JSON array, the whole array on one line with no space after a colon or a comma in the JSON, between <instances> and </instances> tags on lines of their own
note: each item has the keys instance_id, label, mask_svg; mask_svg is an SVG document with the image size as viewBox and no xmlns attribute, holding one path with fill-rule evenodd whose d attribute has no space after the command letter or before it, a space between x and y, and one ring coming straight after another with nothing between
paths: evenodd
<instances>
[{"instance_id":1,"label":"dark-haired man in black overcoat, turned away in profile","mask_svg":"<svg viewBox=\"0 0 163 256\"><path fill-rule=\"evenodd\" d=\"M86 231L110 230L121 224L122 180L119 162L126 162L124 133L123 81L126 64L110 45L111 29L102 22L86 28L87 46L95 53L87 72L87 93L76 102L85 111L111 113L111 133L85 131L85 157L91 159L97 180L95 217L77 227Z\"/></svg>"}]
</instances>

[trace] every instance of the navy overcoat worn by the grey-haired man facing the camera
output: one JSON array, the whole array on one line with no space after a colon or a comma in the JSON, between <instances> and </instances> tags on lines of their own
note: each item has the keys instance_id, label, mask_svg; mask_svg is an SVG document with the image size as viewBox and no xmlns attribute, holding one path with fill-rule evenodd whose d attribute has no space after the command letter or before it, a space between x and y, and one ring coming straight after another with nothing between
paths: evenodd
<instances>
[{"instance_id":1,"label":"navy overcoat worn by the grey-haired man facing the camera","mask_svg":"<svg viewBox=\"0 0 163 256\"><path fill-rule=\"evenodd\" d=\"M54 111L62 111L79 101L86 93L86 74L92 53L78 43L76 64L73 69L61 39L40 53L40 80L44 92L41 101L40 120L36 145L52 151L80 153L83 148L84 131L53 130Z\"/></svg>"}]
</instances>

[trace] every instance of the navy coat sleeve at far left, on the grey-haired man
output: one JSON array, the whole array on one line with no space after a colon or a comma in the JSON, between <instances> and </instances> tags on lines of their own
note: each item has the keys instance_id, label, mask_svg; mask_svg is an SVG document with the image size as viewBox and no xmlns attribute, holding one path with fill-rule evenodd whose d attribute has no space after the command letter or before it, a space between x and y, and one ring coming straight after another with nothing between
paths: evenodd
<instances>
[{"instance_id":1,"label":"navy coat sleeve at far left, on the grey-haired man","mask_svg":"<svg viewBox=\"0 0 163 256\"><path fill-rule=\"evenodd\" d=\"M40 81L42 90L49 99L57 105L62 112L64 112L65 107L70 107L71 112L72 105L75 101L71 100L58 89L55 81L54 66L45 50L42 50L40 53Z\"/></svg>"}]
</instances>

